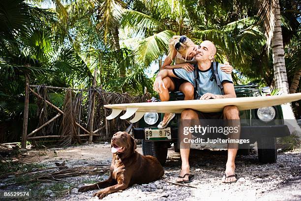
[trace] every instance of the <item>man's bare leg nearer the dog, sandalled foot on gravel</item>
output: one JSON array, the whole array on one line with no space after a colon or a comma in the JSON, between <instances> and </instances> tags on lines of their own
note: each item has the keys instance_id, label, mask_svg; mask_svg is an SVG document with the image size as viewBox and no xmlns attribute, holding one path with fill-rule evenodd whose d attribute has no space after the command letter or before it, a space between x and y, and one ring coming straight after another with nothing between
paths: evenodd
<instances>
[{"instance_id":1,"label":"man's bare leg nearer the dog, sandalled foot on gravel","mask_svg":"<svg viewBox=\"0 0 301 201\"><path fill-rule=\"evenodd\" d=\"M191 126L191 122L189 120L197 120L199 119L198 114L196 111L192 109L187 109L182 111L181 113L181 121L184 120L184 125L182 125L182 128L184 126ZM181 128L181 129L182 129ZM182 132L180 133L180 154L181 154L181 172L180 176L184 176L185 174L190 173L190 166L189 166L189 152L190 152L190 143L184 143L183 139L188 138L191 139L191 134L184 135ZM177 178L177 182L182 181L188 181L188 175L186 175L184 178Z\"/></svg>"}]
</instances>

